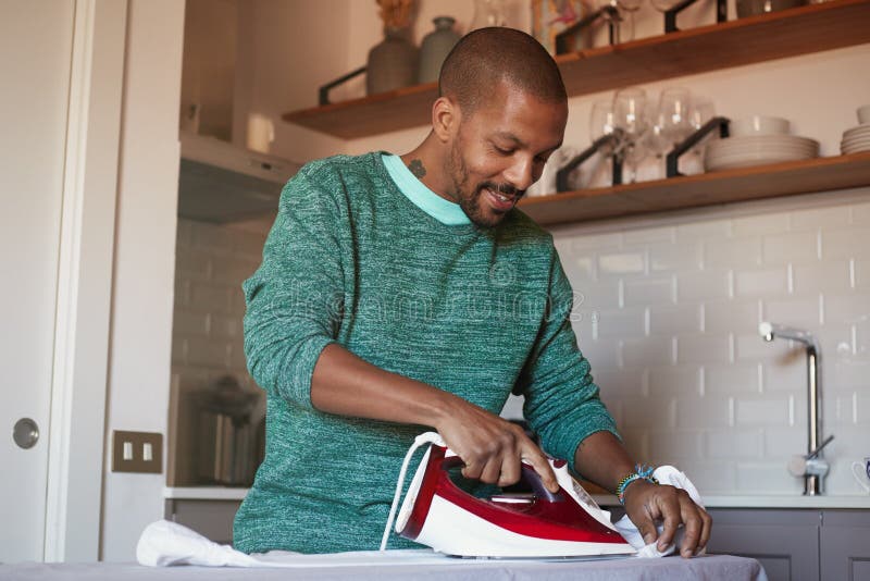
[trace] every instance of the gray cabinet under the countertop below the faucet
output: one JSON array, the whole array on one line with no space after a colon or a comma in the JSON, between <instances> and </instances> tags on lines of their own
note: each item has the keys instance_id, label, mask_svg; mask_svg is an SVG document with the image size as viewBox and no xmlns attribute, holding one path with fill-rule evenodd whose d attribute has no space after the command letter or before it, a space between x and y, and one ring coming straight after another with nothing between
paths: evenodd
<instances>
[{"instance_id":1,"label":"gray cabinet under the countertop below the faucet","mask_svg":"<svg viewBox=\"0 0 870 581\"><path fill-rule=\"evenodd\" d=\"M870 510L711 508L709 553L758 559L770 581L870 581Z\"/></svg>"}]
</instances>

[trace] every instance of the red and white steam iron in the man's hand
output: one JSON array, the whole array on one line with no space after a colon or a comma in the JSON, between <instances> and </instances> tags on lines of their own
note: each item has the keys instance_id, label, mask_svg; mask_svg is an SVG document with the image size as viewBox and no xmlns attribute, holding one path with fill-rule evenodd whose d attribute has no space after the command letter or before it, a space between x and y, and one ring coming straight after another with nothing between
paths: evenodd
<instances>
[{"instance_id":1,"label":"red and white steam iron in the man's hand","mask_svg":"<svg viewBox=\"0 0 870 581\"><path fill-rule=\"evenodd\" d=\"M421 434L408 450L381 549L386 547L405 473L413 452L430 443L401 509L396 532L457 557L558 558L633 555L635 549L610 523L609 514L568 472L564 460L550 460L559 492L551 493L531 466L522 482L531 493L477 498L456 485L449 471L462 466L434 432Z\"/></svg>"}]
</instances>

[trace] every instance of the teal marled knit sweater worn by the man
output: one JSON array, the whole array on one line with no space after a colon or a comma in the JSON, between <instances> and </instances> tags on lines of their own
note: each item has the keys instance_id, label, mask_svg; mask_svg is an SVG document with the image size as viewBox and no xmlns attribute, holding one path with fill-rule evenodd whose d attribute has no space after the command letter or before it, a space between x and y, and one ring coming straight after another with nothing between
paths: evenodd
<instances>
[{"instance_id":1,"label":"teal marled knit sweater worn by the man","mask_svg":"<svg viewBox=\"0 0 870 581\"><path fill-rule=\"evenodd\" d=\"M314 409L311 374L331 343L494 413L523 394L544 449L571 462L591 433L616 433L551 236L517 209L495 228L445 225L381 153L302 168L244 290L248 368L268 396L265 459L235 520L247 553L377 548L402 457L430 430Z\"/></svg>"}]
</instances>

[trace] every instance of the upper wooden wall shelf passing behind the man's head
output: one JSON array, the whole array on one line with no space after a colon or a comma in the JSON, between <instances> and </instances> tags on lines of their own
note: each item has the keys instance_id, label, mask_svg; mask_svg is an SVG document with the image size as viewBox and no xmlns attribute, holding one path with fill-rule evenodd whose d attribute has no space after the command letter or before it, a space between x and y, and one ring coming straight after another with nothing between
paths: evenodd
<instances>
[{"instance_id":1,"label":"upper wooden wall shelf passing behind the man's head","mask_svg":"<svg viewBox=\"0 0 870 581\"><path fill-rule=\"evenodd\" d=\"M870 0L834 0L557 58L570 96L870 42ZM428 123L435 83L283 115L344 139Z\"/></svg>"}]
</instances>

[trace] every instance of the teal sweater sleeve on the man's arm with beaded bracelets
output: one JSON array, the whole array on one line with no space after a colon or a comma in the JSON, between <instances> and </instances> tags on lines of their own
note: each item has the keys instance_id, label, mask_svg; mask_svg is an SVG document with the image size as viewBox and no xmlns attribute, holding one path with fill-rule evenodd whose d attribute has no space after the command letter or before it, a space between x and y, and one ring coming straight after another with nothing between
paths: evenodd
<instances>
[{"instance_id":1,"label":"teal sweater sleeve on the man's arm with beaded bracelets","mask_svg":"<svg viewBox=\"0 0 870 581\"><path fill-rule=\"evenodd\" d=\"M555 249L547 302L545 320L518 390L525 396L523 413L540 436L543 448L568 460L576 472L574 453L583 440L600 431L617 437L619 433L598 397L589 362L577 348L571 326L573 292Z\"/></svg>"}]
</instances>

